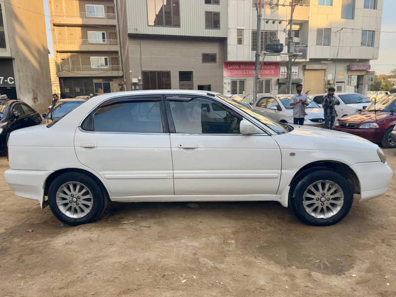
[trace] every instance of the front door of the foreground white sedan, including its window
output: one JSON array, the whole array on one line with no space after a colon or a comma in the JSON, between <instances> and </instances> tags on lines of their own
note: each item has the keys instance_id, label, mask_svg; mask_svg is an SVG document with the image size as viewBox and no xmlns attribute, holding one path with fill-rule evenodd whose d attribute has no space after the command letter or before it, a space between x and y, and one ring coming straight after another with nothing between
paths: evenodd
<instances>
[{"instance_id":1,"label":"front door of the foreground white sedan, including its window","mask_svg":"<svg viewBox=\"0 0 396 297\"><path fill-rule=\"evenodd\" d=\"M242 116L209 97L167 95L166 109L175 195L276 194L281 152L271 136L241 135Z\"/></svg>"}]
</instances>

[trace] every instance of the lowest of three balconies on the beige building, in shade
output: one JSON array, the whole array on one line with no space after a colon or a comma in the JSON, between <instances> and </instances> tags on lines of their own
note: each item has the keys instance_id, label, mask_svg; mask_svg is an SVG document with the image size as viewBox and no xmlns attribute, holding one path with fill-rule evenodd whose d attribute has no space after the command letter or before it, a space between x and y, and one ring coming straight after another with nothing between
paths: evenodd
<instances>
[{"instance_id":1,"label":"lowest of three balconies on the beige building, in shade","mask_svg":"<svg viewBox=\"0 0 396 297\"><path fill-rule=\"evenodd\" d=\"M92 67L91 65L58 65L58 77L105 77L122 76L121 66L108 65L102 67Z\"/></svg>"}]
</instances>

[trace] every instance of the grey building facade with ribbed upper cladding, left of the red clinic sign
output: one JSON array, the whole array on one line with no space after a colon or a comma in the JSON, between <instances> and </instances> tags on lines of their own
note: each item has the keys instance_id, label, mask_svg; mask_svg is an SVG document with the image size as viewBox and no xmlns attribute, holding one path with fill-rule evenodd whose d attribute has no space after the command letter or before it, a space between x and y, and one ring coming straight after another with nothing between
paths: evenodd
<instances>
[{"instance_id":1,"label":"grey building facade with ribbed upper cladding, left of the red clinic sign","mask_svg":"<svg viewBox=\"0 0 396 297\"><path fill-rule=\"evenodd\" d=\"M132 90L223 91L226 0L127 1Z\"/></svg>"}]
</instances>

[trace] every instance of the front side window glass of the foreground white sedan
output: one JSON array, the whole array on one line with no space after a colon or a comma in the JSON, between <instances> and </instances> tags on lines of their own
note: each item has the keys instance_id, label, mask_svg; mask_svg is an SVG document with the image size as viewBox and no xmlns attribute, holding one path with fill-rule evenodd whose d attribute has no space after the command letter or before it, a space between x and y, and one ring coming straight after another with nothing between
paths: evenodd
<instances>
[{"instance_id":1,"label":"front side window glass of the foreground white sedan","mask_svg":"<svg viewBox=\"0 0 396 297\"><path fill-rule=\"evenodd\" d=\"M241 120L218 103L199 97L172 100L167 97L176 133L239 134ZM187 98L188 99L188 98Z\"/></svg>"}]
</instances>

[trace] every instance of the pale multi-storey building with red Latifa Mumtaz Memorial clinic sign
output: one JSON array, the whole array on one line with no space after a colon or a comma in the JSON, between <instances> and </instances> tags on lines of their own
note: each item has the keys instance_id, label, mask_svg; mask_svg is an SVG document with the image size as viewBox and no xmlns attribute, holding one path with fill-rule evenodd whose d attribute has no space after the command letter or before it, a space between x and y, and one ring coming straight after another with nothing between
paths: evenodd
<instances>
[{"instance_id":1,"label":"pale multi-storey building with red Latifa Mumtaz Memorial clinic sign","mask_svg":"<svg viewBox=\"0 0 396 297\"><path fill-rule=\"evenodd\" d=\"M253 0L229 0L224 92L251 94L257 38ZM261 43L285 44L291 0L262 0ZM370 60L378 58L382 0L295 0L293 34L296 52L293 88L299 82L310 94L330 86L339 92L365 94L372 76ZM259 93L285 93L286 55L266 55Z\"/></svg>"}]
</instances>

